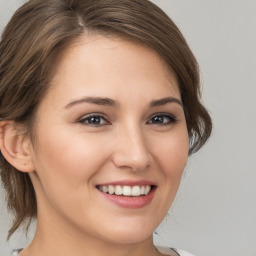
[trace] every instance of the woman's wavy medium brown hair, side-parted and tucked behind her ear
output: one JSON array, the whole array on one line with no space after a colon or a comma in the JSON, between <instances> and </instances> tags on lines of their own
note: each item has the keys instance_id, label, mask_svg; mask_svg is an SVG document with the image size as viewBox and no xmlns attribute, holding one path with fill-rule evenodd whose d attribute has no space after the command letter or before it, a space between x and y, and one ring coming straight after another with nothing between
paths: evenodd
<instances>
[{"instance_id":1,"label":"woman's wavy medium brown hair, side-parted and tucked behind her ear","mask_svg":"<svg viewBox=\"0 0 256 256\"><path fill-rule=\"evenodd\" d=\"M182 96L190 154L211 134L211 118L200 102L196 59L173 21L148 0L30 0L13 15L0 42L0 121L13 120L32 132L33 120L61 53L86 33L117 35L156 51L174 71ZM0 154L1 178L13 232L36 217L28 174Z\"/></svg>"}]
</instances>

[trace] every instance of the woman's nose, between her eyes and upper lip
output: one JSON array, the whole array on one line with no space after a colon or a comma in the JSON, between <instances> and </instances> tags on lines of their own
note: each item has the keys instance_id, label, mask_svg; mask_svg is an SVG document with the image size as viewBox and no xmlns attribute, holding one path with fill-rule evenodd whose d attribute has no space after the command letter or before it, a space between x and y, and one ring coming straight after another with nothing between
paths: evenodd
<instances>
[{"instance_id":1,"label":"woman's nose, between her eyes and upper lip","mask_svg":"<svg viewBox=\"0 0 256 256\"><path fill-rule=\"evenodd\" d=\"M151 163L145 135L139 127L130 125L120 129L115 139L113 162L119 168L143 171Z\"/></svg>"}]
</instances>

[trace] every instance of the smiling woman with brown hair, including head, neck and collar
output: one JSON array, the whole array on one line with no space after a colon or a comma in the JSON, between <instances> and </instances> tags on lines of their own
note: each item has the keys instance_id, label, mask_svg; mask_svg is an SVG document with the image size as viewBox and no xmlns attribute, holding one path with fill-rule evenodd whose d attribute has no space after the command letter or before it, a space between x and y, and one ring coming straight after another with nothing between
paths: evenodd
<instances>
[{"instance_id":1,"label":"smiling woman with brown hair, including head, neck and collar","mask_svg":"<svg viewBox=\"0 0 256 256\"><path fill-rule=\"evenodd\" d=\"M187 255L153 232L211 119L170 18L148 0L31 0L0 56L9 237L37 218L14 255Z\"/></svg>"}]
</instances>

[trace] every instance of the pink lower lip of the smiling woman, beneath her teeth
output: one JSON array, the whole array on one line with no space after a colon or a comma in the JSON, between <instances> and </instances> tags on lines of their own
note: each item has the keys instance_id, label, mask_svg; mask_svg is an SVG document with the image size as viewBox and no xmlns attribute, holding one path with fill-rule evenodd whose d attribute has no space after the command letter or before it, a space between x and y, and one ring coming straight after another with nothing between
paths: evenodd
<instances>
[{"instance_id":1,"label":"pink lower lip of the smiling woman, beneath her teeth","mask_svg":"<svg viewBox=\"0 0 256 256\"><path fill-rule=\"evenodd\" d=\"M107 200L111 201L112 203L118 205L119 207L123 208L142 208L150 204L152 201L154 194L155 194L156 187L153 187L151 191L145 196L117 196L117 195L110 195L98 190Z\"/></svg>"}]
</instances>

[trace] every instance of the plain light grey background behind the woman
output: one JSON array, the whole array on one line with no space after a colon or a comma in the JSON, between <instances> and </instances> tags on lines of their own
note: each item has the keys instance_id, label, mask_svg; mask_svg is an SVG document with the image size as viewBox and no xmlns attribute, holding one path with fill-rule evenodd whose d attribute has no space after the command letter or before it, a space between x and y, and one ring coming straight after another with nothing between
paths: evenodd
<instances>
[{"instance_id":1,"label":"plain light grey background behind the woman","mask_svg":"<svg viewBox=\"0 0 256 256\"><path fill-rule=\"evenodd\" d=\"M24 2L0 0L0 31ZM176 22L196 55L214 122L208 144L189 159L156 243L197 256L256 256L256 1L153 2ZM0 256L7 256L29 238L18 232L5 240L11 217L0 193Z\"/></svg>"}]
</instances>

